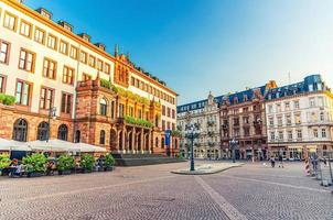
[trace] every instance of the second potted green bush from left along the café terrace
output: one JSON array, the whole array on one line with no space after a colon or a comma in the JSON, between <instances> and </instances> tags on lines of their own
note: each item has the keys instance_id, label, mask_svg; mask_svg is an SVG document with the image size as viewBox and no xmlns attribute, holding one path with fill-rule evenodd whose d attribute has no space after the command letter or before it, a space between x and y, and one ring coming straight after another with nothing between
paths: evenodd
<instances>
[{"instance_id":1,"label":"second potted green bush from left along the caf\u00e9 terrace","mask_svg":"<svg viewBox=\"0 0 333 220\"><path fill-rule=\"evenodd\" d=\"M40 177L46 170L46 157L44 154L36 153L23 157L23 164L26 166L28 177Z\"/></svg>"}]
</instances>

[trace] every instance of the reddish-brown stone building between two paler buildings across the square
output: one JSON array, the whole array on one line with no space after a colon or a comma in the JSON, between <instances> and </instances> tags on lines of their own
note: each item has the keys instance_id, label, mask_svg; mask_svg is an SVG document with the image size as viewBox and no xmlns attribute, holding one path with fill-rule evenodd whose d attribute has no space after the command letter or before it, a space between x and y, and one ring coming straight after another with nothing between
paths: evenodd
<instances>
[{"instance_id":1,"label":"reddish-brown stone building between two paler buildings across the square","mask_svg":"<svg viewBox=\"0 0 333 220\"><path fill-rule=\"evenodd\" d=\"M235 139L238 141L236 158L267 158L265 96L276 87L275 81L269 81L265 86L223 97L219 117L224 157L232 156L229 142Z\"/></svg>"}]
</instances>

